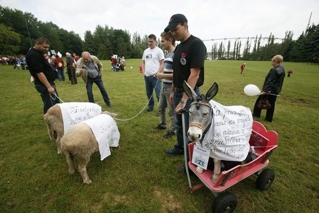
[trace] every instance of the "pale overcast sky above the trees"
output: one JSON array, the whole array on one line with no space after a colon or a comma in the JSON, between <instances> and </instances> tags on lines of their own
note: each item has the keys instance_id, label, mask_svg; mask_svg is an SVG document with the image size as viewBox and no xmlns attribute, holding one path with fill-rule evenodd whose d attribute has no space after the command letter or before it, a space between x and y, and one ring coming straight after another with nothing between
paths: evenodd
<instances>
[{"instance_id":1,"label":"pale overcast sky above the trees","mask_svg":"<svg viewBox=\"0 0 319 213\"><path fill-rule=\"evenodd\" d=\"M319 23L319 0L0 0L0 5L52 21L82 39L98 24L115 29L160 36L171 15L182 13L191 34L211 50L210 39L247 37L284 38L287 30L297 39L310 24ZM228 40L226 40L227 45ZM231 40L231 44L235 42ZM262 41L267 43L267 39ZM281 42L281 40L276 40Z\"/></svg>"}]
</instances>

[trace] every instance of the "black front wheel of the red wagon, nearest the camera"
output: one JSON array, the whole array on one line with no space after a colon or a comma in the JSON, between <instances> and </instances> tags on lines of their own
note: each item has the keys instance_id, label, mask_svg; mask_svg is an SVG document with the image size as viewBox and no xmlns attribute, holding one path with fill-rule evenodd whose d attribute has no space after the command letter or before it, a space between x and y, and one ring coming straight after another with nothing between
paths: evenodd
<instances>
[{"instance_id":1,"label":"black front wheel of the red wagon, nearest the camera","mask_svg":"<svg viewBox=\"0 0 319 213\"><path fill-rule=\"evenodd\" d=\"M217 196L212 203L211 209L213 213L232 213L236 207L237 197L230 192L225 192Z\"/></svg>"}]
</instances>

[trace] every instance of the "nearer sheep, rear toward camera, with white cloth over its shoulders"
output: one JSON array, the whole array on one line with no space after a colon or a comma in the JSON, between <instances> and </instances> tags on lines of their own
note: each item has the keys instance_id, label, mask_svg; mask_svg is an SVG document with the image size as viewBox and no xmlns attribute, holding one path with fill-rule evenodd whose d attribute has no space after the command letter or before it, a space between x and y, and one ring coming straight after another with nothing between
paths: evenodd
<instances>
[{"instance_id":1,"label":"nearer sheep, rear toward camera, with white cloth over its shoulders","mask_svg":"<svg viewBox=\"0 0 319 213\"><path fill-rule=\"evenodd\" d=\"M83 183L91 184L86 166L93 153L100 151L101 161L111 154L110 146L119 145L120 133L114 119L105 114L71 126L61 138L60 144L69 167L74 174L73 157L78 160L78 170ZM104 140L104 141L103 141Z\"/></svg>"}]
</instances>

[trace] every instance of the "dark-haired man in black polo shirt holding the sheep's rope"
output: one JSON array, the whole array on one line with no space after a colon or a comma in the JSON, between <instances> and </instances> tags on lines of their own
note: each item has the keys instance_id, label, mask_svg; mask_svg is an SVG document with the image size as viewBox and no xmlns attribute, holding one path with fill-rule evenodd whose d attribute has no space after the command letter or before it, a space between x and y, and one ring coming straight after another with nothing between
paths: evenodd
<instances>
[{"instance_id":1,"label":"dark-haired man in black polo shirt holding the sheep's rope","mask_svg":"<svg viewBox=\"0 0 319 213\"><path fill-rule=\"evenodd\" d=\"M45 37L38 37L35 44L26 53L25 60L29 67L30 74L34 78L35 89L40 93L43 101L43 112L56 103L60 103L55 88L54 71L49 62L43 56L50 47L50 41ZM55 96L56 95L56 96Z\"/></svg>"}]
</instances>

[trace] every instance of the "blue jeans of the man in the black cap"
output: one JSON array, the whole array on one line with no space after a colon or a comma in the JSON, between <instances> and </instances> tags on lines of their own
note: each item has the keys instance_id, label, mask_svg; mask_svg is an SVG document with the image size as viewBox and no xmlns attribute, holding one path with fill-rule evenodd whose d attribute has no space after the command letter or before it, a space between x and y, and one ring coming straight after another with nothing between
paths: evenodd
<instances>
[{"instance_id":1,"label":"blue jeans of the man in the black cap","mask_svg":"<svg viewBox=\"0 0 319 213\"><path fill-rule=\"evenodd\" d=\"M197 95L200 94L198 87L195 87L194 91ZM174 92L174 98L173 98L174 108L176 108L176 106L178 105L178 103L182 97L183 97L183 92L176 92L176 91ZM190 99L188 98L184 109L186 109L188 111L190 104L191 104L191 102L190 102ZM185 116L185 124L184 124L185 125L185 133L183 133L182 115L181 114L177 115L175 113L175 128L176 128L177 143L174 145L174 150L177 153L184 153L183 134L185 134L185 137L186 137L186 144L189 144L191 142L191 141L189 141L188 136L187 136L188 124L189 124L188 113L184 113L184 116ZM187 147L187 150L188 150L188 147ZM189 160L188 151L186 154L187 154L187 160Z\"/></svg>"}]
</instances>

